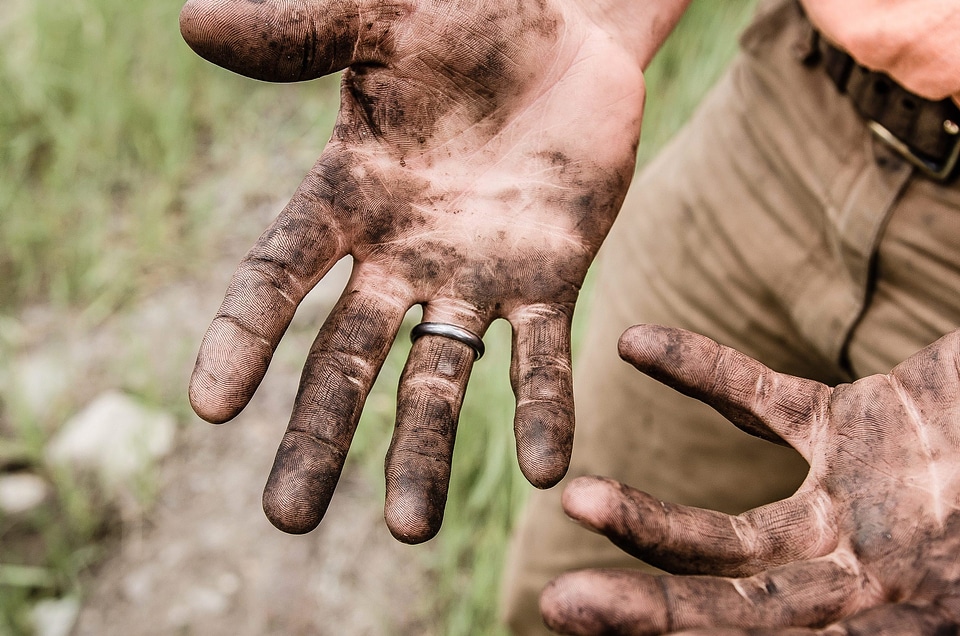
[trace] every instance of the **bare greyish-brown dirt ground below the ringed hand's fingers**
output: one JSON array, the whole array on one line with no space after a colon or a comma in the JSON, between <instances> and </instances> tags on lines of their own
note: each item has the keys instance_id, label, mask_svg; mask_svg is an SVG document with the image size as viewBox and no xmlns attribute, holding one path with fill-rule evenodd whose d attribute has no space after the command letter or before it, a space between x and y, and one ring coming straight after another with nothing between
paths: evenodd
<instances>
[{"instance_id":1,"label":"bare greyish-brown dirt ground below the ringed hand's fingers","mask_svg":"<svg viewBox=\"0 0 960 636\"><path fill-rule=\"evenodd\" d=\"M342 282L335 273L329 293L318 290L304 308L306 317L291 327L236 420L213 426L195 418L180 426L155 502L126 520L113 554L88 582L75 634L430 633L423 602L430 547L393 540L383 524L382 485L369 475L348 470L326 519L308 535L276 530L261 511L316 328L310 317L325 310ZM212 316L201 308L219 301L207 298L206 288L168 290L130 320L155 334L151 323L166 325L158 355L166 339L195 344Z\"/></svg>"}]
</instances>

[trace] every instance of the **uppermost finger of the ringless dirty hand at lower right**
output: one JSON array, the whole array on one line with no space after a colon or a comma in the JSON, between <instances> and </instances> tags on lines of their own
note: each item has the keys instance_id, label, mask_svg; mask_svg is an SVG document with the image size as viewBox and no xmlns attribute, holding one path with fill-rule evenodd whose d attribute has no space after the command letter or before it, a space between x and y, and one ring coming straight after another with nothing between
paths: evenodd
<instances>
[{"instance_id":1,"label":"uppermost finger of the ringless dirty hand at lower right","mask_svg":"<svg viewBox=\"0 0 960 636\"><path fill-rule=\"evenodd\" d=\"M826 385L777 373L705 336L670 327L631 327L620 338L620 355L744 431L782 438L810 460L810 435L825 420L830 397Z\"/></svg>"}]
</instances>

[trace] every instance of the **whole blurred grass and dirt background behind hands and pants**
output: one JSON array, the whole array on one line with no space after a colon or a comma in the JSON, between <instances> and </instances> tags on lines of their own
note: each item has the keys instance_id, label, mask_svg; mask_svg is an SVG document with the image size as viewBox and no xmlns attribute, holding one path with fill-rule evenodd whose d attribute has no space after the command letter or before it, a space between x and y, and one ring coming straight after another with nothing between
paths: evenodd
<instances>
[{"instance_id":1,"label":"whole blurred grass and dirt background behind hands and pants","mask_svg":"<svg viewBox=\"0 0 960 636\"><path fill-rule=\"evenodd\" d=\"M647 74L641 164L734 54L753 0L696 0ZM0 0L0 634L499 634L530 486L509 329L461 417L443 529L382 522L401 338L321 527L260 510L309 344L349 265L298 312L235 422L186 385L239 259L310 168L337 78L268 85L197 58L179 2ZM589 284L577 316L590 311Z\"/></svg>"}]
</instances>

